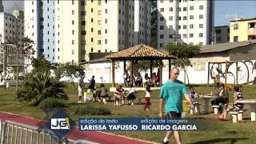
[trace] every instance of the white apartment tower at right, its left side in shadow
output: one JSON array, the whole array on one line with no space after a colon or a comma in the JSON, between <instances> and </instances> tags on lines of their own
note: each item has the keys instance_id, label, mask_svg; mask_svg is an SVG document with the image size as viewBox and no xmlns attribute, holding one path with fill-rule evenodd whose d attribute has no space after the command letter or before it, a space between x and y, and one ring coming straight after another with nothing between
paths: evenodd
<instances>
[{"instance_id":1,"label":"white apartment tower at right, its left side in shadow","mask_svg":"<svg viewBox=\"0 0 256 144\"><path fill-rule=\"evenodd\" d=\"M214 1L159 0L158 48L168 43L207 45L213 40Z\"/></svg>"}]
</instances>

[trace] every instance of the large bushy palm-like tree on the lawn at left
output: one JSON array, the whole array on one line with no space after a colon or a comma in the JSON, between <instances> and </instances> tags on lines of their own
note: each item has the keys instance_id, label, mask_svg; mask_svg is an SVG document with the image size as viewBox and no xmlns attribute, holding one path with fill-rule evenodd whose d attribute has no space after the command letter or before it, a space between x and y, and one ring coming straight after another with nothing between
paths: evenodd
<instances>
[{"instance_id":1,"label":"large bushy palm-like tree on the lawn at left","mask_svg":"<svg viewBox=\"0 0 256 144\"><path fill-rule=\"evenodd\" d=\"M53 66L45 58L32 58L34 69L26 74L21 92L18 93L19 101L30 102L30 105L38 106L46 98L67 99L64 93L64 82L59 82L50 74Z\"/></svg>"}]
</instances>

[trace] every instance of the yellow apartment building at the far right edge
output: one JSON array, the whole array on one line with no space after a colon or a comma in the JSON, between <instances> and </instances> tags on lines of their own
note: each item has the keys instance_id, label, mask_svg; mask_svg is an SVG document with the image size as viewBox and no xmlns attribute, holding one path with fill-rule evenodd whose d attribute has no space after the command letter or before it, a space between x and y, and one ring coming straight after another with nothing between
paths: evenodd
<instances>
[{"instance_id":1,"label":"yellow apartment building at the far right edge","mask_svg":"<svg viewBox=\"0 0 256 144\"><path fill-rule=\"evenodd\" d=\"M256 18L238 18L230 21L230 42L251 39L256 39Z\"/></svg>"}]
</instances>

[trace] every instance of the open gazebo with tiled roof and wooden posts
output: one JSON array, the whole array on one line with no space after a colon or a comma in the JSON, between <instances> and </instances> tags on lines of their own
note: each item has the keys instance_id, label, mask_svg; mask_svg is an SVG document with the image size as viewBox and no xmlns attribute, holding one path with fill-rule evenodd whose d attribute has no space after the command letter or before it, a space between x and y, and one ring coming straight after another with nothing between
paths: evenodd
<instances>
[{"instance_id":1,"label":"open gazebo with tiled roof and wooden posts","mask_svg":"<svg viewBox=\"0 0 256 144\"><path fill-rule=\"evenodd\" d=\"M112 62L112 86L114 86L114 62L116 61L124 61L124 70L126 70L126 61L130 61L130 83L132 83L132 75L133 75L133 64L138 60L150 60L150 78L152 78L152 64L154 60L159 60L159 85L162 85L162 60L169 60L169 71L171 68L170 59L174 59L174 56L170 56L169 54L164 54L162 51L156 50L153 47L146 46L144 44L131 47L126 50L119 51L115 54L110 54L106 56L107 59L110 59Z\"/></svg>"}]
</instances>

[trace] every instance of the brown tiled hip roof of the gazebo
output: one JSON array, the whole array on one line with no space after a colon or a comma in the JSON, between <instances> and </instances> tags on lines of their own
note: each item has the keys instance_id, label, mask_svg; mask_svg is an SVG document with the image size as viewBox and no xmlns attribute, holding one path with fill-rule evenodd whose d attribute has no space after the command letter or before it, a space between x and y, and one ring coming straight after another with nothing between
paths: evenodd
<instances>
[{"instance_id":1,"label":"brown tiled hip roof of the gazebo","mask_svg":"<svg viewBox=\"0 0 256 144\"><path fill-rule=\"evenodd\" d=\"M162 51L156 50L153 47L141 44L115 54L107 55L106 58L111 60L162 60L174 59L174 56L164 54Z\"/></svg>"}]
</instances>

